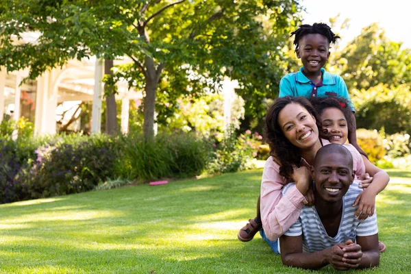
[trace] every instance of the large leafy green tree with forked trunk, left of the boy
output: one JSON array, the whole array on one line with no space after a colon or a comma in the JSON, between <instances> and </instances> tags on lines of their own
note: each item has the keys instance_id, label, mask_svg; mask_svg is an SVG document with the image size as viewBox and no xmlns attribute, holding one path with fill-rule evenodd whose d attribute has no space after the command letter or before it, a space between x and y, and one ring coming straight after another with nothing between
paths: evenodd
<instances>
[{"instance_id":1,"label":"large leafy green tree with forked trunk, left of the boy","mask_svg":"<svg viewBox=\"0 0 411 274\"><path fill-rule=\"evenodd\" d=\"M160 81L177 97L238 79L250 110L275 97L281 49L299 10L297 0L3 1L0 65L30 67L34 78L71 58L127 55L133 64L123 76L145 90L143 132L150 139ZM40 32L38 40L19 44L29 31Z\"/></svg>"}]
</instances>

